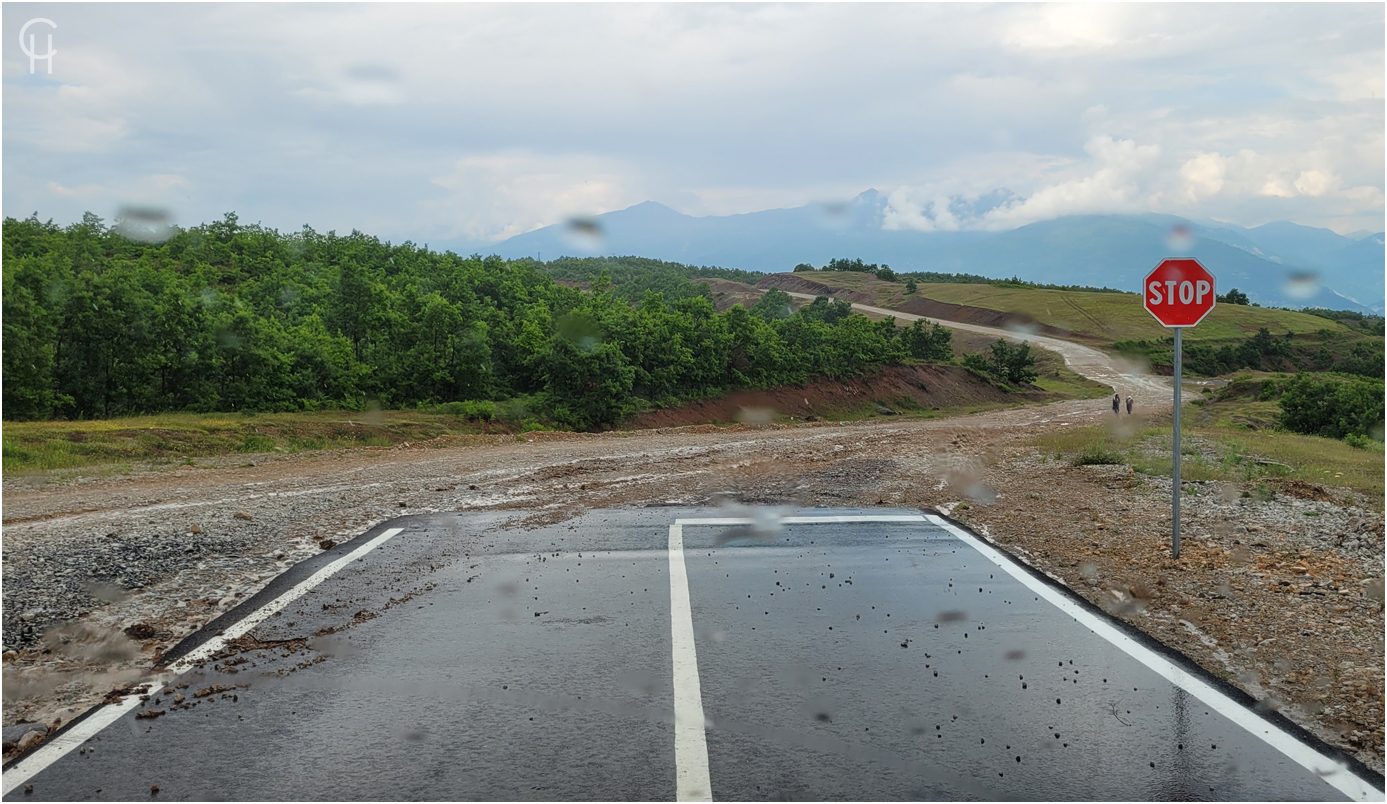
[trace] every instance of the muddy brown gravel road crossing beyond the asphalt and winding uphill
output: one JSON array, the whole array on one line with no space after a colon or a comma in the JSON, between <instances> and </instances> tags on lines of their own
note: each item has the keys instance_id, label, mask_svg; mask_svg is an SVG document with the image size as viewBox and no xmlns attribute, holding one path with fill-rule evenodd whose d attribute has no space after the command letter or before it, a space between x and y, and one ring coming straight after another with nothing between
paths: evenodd
<instances>
[{"instance_id":1,"label":"muddy brown gravel road crossing beyond the asphalt and winding uphill","mask_svg":"<svg viewBox=\"0 0 1387 804\"><path fill-rule=\"evenodd\" d=\"M1050 338L1031 341L1050 348L1042 342ZM1137 395L1143 409L1154 406L1157 387L1168 388L1093 349L1054 348L1079 373L1150 388ZM122 477L11 480L4 625L7 647L18 652L6 656L4 722L71 718L325 539L398 514L513 510L515 521L540 525L602 507L730 495L953 510L1380 771L1380 514L1345 489L1262 499L1243 496L1251 484L1190 484L1189 541L1172 561L1168 480L1072 467L1028 445L1046 431L1112 419L1104 399L1071 401L945 420L542 432L466 446L445 438L251 456L254 464L234 456Z\"/></svg>"}]
</instances>

